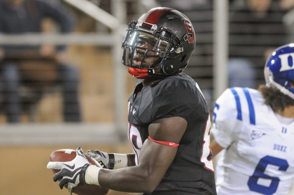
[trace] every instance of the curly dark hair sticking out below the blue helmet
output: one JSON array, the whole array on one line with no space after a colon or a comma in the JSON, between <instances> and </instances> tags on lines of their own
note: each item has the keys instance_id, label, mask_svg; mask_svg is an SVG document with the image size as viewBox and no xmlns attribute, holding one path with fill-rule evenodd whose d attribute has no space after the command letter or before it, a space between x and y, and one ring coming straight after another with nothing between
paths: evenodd
<instances>
[{"instance_id":1,"label":"curly dark hair sticking out below the blue helmet","mask_svg":"<svg viewBox=\"0 0 294 195\"><path fill-rule=\"evenodd\" d=\"M274 112L284 111L288 106L294 106L294 99L284 95L276 88L260 85L258 91L265 99L265 104L269 105Z\"/></svg>"}]
</instances>

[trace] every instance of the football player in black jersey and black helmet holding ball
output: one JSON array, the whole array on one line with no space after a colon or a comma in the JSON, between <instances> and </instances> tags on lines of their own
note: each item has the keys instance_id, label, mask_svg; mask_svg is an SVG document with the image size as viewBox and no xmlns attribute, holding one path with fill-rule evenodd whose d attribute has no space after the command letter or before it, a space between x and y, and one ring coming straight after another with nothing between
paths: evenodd
<instances>
[{"instance_id":1,"label":"football player in black jersey and black helmet holding ball","mask_svg":"<svg viewBox=\"0 0 294 195\"><path fill-rule=\"evenodd\" d=\"M53 176L71 192L96 184L144 195L216 195L209 148L210 115L196 82L182 71L195 49L190 20L177 10L158 7L129 24L123 64L138 78L128 99L128 138L133 154L89 150L103 168L89 165L81 148Z\"/></svg>"}]
</instances>

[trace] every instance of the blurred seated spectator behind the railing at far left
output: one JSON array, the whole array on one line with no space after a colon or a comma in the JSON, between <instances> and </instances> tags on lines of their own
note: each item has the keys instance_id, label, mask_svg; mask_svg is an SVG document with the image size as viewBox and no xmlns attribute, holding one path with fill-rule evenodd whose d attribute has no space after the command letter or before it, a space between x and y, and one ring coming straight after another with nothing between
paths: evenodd
<instances>
[{"instance_id":1,"label":"blurred seated spectator behind the railing at far left","mask_svg":"<svg viewBox=\"0 0 294 195\"><path fill-rule=\"evenodd\" d=\"M0 33L24 34L44 31L50 18L61 33L73 31L71 13L45 0L0 0ZM63 120L80 122L79 73L67 60L66 46L0 46L2 107L7 122L20 122L21 113L36 104L48 87L60 86Z\"/></svg>"}]
</instances>

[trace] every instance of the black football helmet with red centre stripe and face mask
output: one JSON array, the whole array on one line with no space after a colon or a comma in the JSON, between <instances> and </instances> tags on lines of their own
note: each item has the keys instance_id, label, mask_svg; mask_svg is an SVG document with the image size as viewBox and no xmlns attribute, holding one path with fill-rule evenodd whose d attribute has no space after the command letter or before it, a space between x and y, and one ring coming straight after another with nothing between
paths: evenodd
<instances>
[{"instance_id":1,"label":"black football helmet with red centre stripe and face mask","mask_svg":"<svg viewBox=\"0 0 294 195\"><path fill-rule=\"evenodd\" d=\"M145 69L151 77L164 77L186 68L195 49L195 33L180 12L153 8L129 24L122 47L124 65Z\"/></svg>"}]
</instances>

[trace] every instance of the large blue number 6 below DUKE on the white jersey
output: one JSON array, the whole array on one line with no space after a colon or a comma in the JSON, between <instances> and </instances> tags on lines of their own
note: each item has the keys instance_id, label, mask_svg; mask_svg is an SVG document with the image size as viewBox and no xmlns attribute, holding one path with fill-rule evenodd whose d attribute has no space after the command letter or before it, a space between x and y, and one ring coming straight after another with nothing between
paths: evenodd
<instances>
[{"instance_id":1,"label":"large blue number 6 below DUKE on the white jersey","mask_svg":"<svg viewBox=\"0 0 294 195\"><path fill-rule=\"evenodd\" d=\"M279 167L279 171L286 171L289 167L288 162L284 159L275 158L272 156L263 157L262 159L260 159L253 175L249 177L249 180L247 182L247 185L251 191L258 192L263 195L272 195L277 191L280 179L278 177L272 177L264 173L268 165ZM260 178L270 179L270 185L263 186L258 184L258 180Z\"/></svg>"}]
</instances>

